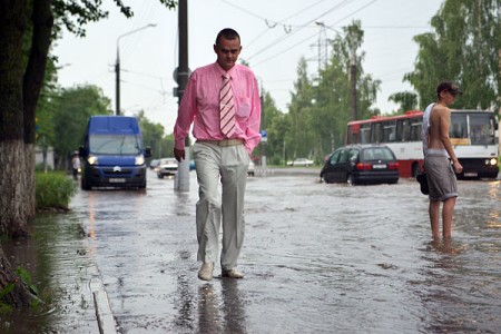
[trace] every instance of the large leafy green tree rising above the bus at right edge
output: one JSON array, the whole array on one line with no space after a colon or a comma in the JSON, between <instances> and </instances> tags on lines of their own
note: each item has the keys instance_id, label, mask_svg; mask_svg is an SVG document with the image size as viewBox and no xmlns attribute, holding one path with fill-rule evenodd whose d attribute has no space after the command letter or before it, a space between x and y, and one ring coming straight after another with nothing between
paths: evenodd
<instances>
[{"instance_id":1,"label":"large leafy green tree rising above the bus at right edge","mask_svg":"<svg viewBox=\"0 0 501 334\"><path fill-rule=\"evenodd\" d=\"M433 32L414 37L420 49L414 71L404 76L421 108L436 99L439 82L452 80L464 94L455 108L501 107L501 0L445 0L432 18Z\"/></svg>"}]
</instances>

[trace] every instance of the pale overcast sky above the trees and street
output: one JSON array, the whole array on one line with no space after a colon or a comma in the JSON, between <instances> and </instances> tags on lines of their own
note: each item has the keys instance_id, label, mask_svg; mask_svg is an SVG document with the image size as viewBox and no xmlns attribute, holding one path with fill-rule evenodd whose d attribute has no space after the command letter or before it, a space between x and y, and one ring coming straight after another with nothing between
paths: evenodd
<instances>
[{"instance_id":1,"label":"pale overcast sky above the trees and street","mask_svg":"<svg viewBox=\"0 0 501 334\"><path fill-rule=\"evenodd\" d=\"M158 0L124 0L135 12L126 19L114 1L105 1L108 19L87 27L87 37L68 32L55 46L59 57L59 85L96 85L111 99L115 110L115 62L118 37L150 23L157 24L119 40L122 114L144 110L146 117L173 131L177 116L177 84L173 71L178 65L177 10L169 11ZM286 111L296 80L301 57L308 59L312 76L318 55L325 56L325 39L335 30L361 20L365 32L360 51L365 52L363 68L382 81L377 102L383 114L396 108L387 97L411 90L403 84L413 70L418 46L413 36L431 31L430 20L440 0L188 0L189 68L214 62L213 45L217 32L233 28L242 39L240 58L249 62L258 81L272 94L278 108ZM322 29L315 22L323 22ZM318 48L318 45L322 47Z\"/></svg>"}]
</instances>

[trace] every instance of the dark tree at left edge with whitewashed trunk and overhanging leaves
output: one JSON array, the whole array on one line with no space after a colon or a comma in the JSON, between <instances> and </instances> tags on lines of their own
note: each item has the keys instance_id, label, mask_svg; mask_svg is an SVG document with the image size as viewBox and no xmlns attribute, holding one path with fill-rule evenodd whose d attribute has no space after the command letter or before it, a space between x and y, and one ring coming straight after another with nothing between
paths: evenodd
<instances>
[{"instance_id":1,"label":"dark tree at left edge with whitewashed trunk and overhanging leaves","mask_svg":"<svg viewBox=\"0 0 501 334\"><path fill-rule=\"evenodd\" d=\"M176 6L175 0L159 1ZM121 0L115 2L127 17L132 14ZM85 24L107 16L100 4L101 0L0 1L0 235L26 235L26 224L35 217L35 115L50 45L63 27L85 36ZM27 33L31 39L24 57ZM7 264L0 252L0 291L14 285L3 298L26 305L22 285Z\"/></svg>"}]
</instances>

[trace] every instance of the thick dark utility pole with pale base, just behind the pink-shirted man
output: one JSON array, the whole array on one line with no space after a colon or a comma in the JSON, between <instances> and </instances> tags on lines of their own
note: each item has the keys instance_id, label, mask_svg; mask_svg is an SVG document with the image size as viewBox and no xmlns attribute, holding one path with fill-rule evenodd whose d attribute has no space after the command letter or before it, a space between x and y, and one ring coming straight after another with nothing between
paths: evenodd
<instances>
[{"instance_id":1,"label":"thick dark utility pole with pale base, just behind the pink-shirted man","mask_svg":"<svg viewBox=\"0 0 501 334\"><path fill-rule=\"evenodd\" d=\"M188 0L178 2L179 27L179 67L177 68L178 106L183 100L186 85L188 84ZM175 72L176 75L176 72ZM179 191L189 191L189 138L185 139L185 160L178 164L174 188Z\"/></svg>"}]
</instances>

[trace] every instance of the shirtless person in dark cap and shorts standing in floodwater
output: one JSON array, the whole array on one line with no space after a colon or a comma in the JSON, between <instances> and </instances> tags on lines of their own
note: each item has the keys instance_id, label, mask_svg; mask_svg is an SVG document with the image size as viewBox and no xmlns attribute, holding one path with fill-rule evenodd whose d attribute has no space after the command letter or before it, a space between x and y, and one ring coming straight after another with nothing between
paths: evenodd
<instances>
[{"instance_id":1,"label":"shirtless person in dark cap and shorts standing in floodwater","mask_svg":"<svg viewBox=\"0 0 501 334\"><path fill-rule=\"evenodd\" d=\"M436 102L429 105L423 115L424 169L430 189L429 214L434 242L440 240L440 202L443 202L442 236L444 240L450 240L452 236L452 216L458 197L455 174L461 174L463 167L449 138L449 106L460 94L462 91L456 85L441 82L436 88Z\"/></svg>"}]
</instances>

